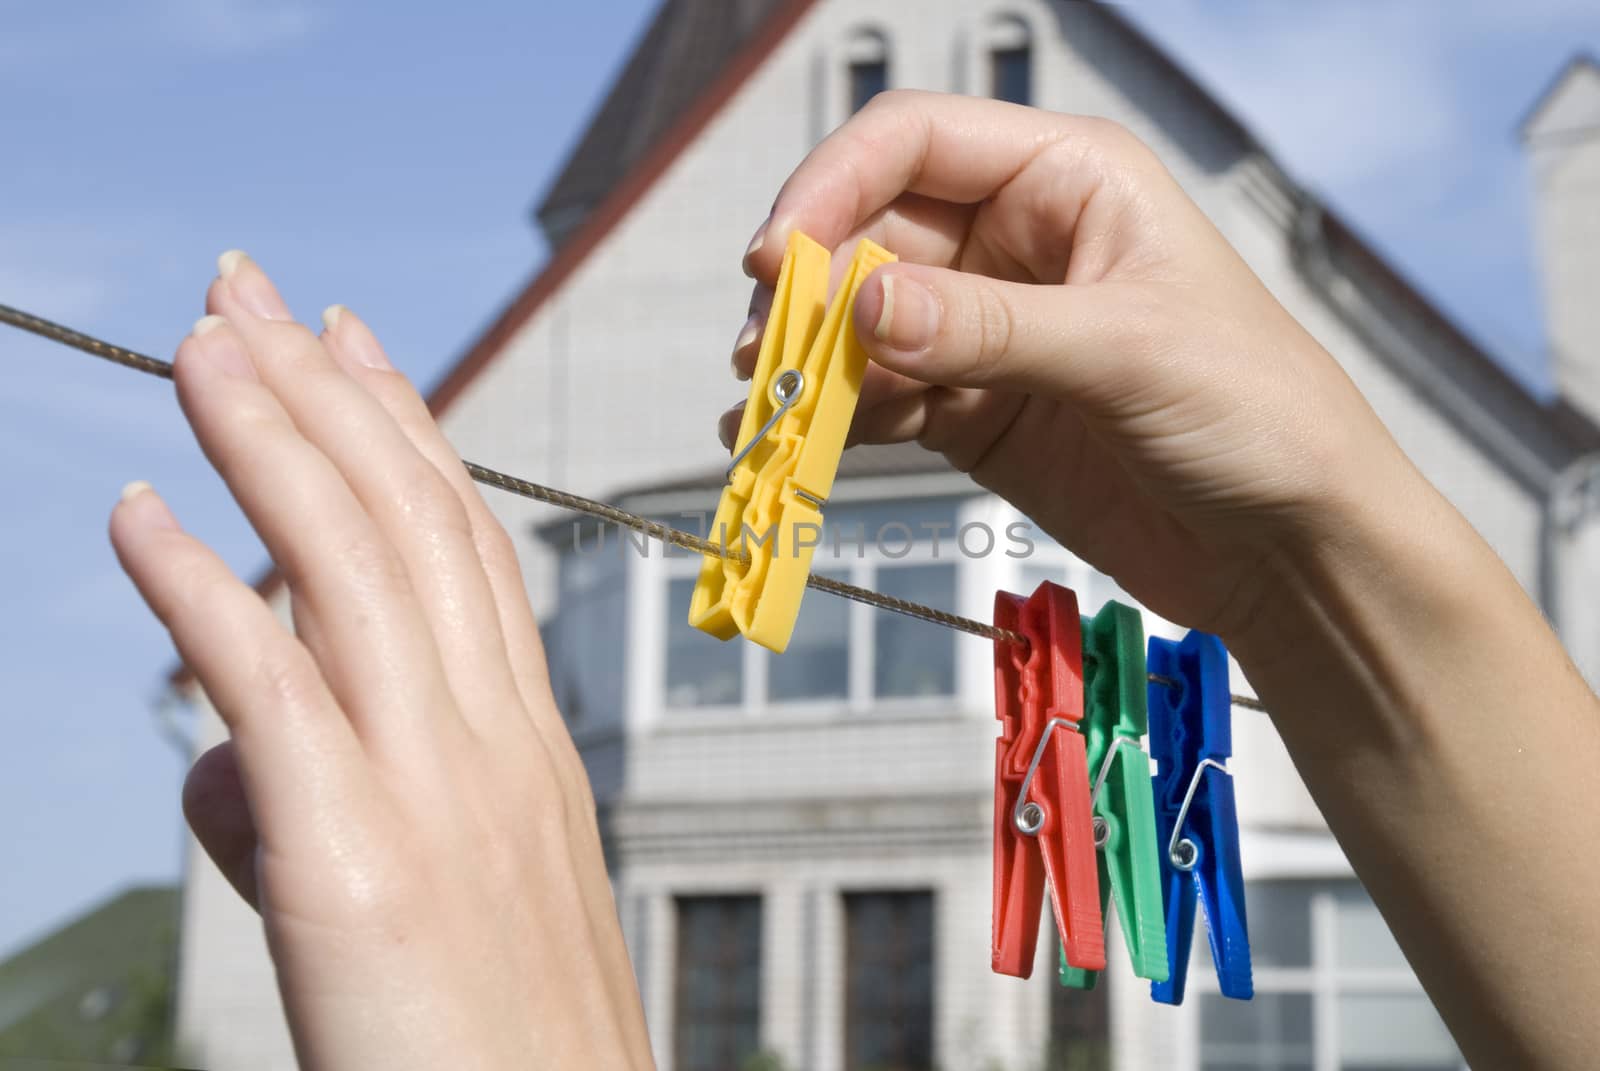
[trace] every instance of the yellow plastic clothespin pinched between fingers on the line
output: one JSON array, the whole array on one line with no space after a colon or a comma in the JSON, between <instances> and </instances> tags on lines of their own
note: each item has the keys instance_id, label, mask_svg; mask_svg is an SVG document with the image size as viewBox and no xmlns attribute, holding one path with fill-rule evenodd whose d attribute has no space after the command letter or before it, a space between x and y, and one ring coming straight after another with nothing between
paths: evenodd
<instances>
[{"instance_id":1,"label":"yellow plastic clothespin pinched between fingers on the line","mask_svg":"<svg viewBox=\"0 0 1600 1071\"><path fill-rule=\"evenodd\" d=\"M811 556L822 541L822 504L867 370L853 327L856 291L872 269L893 259L862 239L826 304L827 250L803 234L789 235L710 528L710 540L733 557L707 556L701 565L690 602L694 628L723 640L744 634L779 653L789 647Z\"/></svg>"}]
</instances>

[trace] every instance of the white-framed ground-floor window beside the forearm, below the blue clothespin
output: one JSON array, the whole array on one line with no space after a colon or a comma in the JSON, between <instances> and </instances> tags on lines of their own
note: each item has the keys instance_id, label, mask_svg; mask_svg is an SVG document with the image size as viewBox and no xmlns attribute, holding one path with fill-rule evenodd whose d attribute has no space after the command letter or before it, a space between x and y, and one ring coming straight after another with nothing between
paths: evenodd
<instances>
[{"instance_id":1,"label":"white-framed ground-floor window beside the forearm, below the blue clothespin","mask_svg":"<svg viewBox=\"0 0 1600 1071\"><path fill-rule=\"evenodd\" d=\"M1256 999L1216 991L1195 933L1189 985L1203 1071L1459 1071L1450 1033L1358 882L1267 880L1245 890ZM1326 1025L1333 1039L1318 1039ZM1334 1063L1318 1060L1331 1053Z\"/></svg>"}]
</instances>

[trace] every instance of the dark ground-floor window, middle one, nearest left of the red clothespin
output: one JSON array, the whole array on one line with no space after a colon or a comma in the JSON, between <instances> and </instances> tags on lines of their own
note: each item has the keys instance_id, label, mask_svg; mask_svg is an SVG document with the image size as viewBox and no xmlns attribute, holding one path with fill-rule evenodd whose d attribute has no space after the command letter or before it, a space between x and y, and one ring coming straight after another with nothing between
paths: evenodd
<instances>
[{"instance_id":1,"label":"dark ground-floor window, middle one, nearest left of the red clothespin","mask_svg":"<svg viewBox=\"0 0 1600 1071\"><path fill-rule=\"evenodd\" d=\"M933 893L845 897L846 1071L933 1071Z\"/></svg>"}]
</instances>

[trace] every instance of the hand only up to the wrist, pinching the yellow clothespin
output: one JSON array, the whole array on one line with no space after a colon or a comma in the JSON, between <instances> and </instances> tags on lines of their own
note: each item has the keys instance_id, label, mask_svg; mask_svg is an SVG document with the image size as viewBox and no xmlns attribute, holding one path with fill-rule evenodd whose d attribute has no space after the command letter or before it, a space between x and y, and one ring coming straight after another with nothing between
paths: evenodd
<instances>
[{"instance_id":1,"label":"hand only up to the wrist, pinching the yellow clothespin","mask_svg":"<svg viewBox=\"0 0 1600 1071\"><path fill-rule=\"evenodd\" d=\"M918 440L1157 613L1240 639L1280 559L1414 472L1339 365L1106 120L886 93L757 231L749 378L786 237L899 255L859 291L854 442ZM738 413L725 416L723 437Z\"/></svg>"}]
</instances>

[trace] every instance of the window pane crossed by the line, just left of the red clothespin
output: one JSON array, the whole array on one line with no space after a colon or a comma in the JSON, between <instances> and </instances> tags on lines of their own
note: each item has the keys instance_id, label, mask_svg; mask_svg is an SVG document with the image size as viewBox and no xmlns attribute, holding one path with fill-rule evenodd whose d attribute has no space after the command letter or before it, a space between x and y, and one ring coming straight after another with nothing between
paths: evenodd
<instances>
[{"instance_id":1,"label":"window pane crossed by the line, just left of the red clothespin","mask_svg":"<svg viewBox=\"0 0 1600 1071\"><path fill-rule=\"evenodd\" d=\"M906 565L878 568L877 588L886 596L925 607L955 610L955 565ZM955 632L907 618L878 613L875 688L880 696L955 693Z\"/></svg>"}]
</instances>

